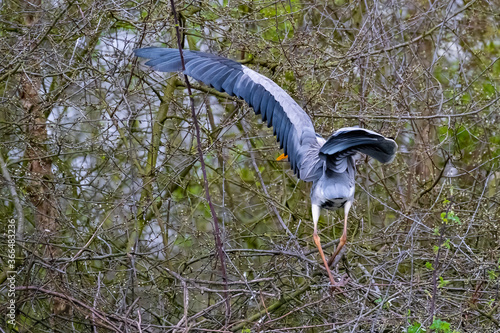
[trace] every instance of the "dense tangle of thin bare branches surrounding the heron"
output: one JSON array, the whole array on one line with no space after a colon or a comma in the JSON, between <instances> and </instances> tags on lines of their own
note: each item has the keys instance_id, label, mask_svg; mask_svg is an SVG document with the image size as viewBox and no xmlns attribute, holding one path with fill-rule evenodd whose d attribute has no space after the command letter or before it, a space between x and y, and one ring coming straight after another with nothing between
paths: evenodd
<instances>
[{"instance_id":1,"label":"dense tangle of thin bare branches surrounding the heron","mask_svg":"<svg viewBox=\"0 0 500 333\"><path fill-rule=\"evenodd\" d=\"M252 109L192 81L221 263L184 78L132 53L177 46L168 1L0 6L20 332L499 329L498 1L176 2L183 47L272 78L321 135L396 138L392 164L358 159L333 293L310 184ZM340 217L320 220L327 253ZM3 331L8 256L2 238Z\"/></svg>"}]
</instances>

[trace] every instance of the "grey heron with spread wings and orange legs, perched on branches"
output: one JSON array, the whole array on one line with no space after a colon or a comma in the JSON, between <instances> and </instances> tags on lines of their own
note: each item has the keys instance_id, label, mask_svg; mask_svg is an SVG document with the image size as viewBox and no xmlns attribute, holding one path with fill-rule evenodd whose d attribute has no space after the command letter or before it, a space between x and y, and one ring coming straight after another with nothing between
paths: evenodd
<instances>
[{"instance_id":1,"label":"grey heron with spread wings and orange legs, perched on branches","mask_svg":"<svg viewBox=\"0 0 500 333\"><path fill-rule=\"evenodd\" d=\"M178 49L148 47L134 51L150 59L147 66L160 72L182 71ZM276 83L250 68L224 57L199 51L183 51L184 73L220 92L243 99L260 114L280 142L291 168L299 179L312 182L311 205L313 239L331 286L338 286L329 262L347 241L347 216L354 200L355 161L358 152L381 163L391 162L397 150L394 140L362 128L341 128L327 140L314 130L307 113ZM339 244L327 262L318 236L320 210L344 208L344 230Z\"/></svg>"}]
</instances>

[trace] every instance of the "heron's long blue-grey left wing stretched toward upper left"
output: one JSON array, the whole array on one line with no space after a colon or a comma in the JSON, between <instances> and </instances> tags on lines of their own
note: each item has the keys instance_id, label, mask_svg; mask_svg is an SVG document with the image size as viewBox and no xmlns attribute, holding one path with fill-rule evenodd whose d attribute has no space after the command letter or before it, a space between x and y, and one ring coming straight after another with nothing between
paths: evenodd
<instances>
[{"instance_id":1,"label":"heron's long blue-grey left wing stretched toward upper left","mask_svg":"<svg viewBox=\"0 0 500 333\"><path fill-rule=\"evenodd\" d=\"M161 72L182 70L179 50L149 47L134 51L142 58L151 59L146 65ZM322 168L319 144L311 118L276 83L250 68L227 58L198 51L183 51L184 73L214 87L218 91L237 96L262 115L268 127L280 142L291 167L300 179L314 180ZM308 159L310 148L314 161ZM313 154L314 155L314 154ZM321 164L321 165L320 165ZM319 177L318 177L319 178Z\"/></svg>"}]
</instances>

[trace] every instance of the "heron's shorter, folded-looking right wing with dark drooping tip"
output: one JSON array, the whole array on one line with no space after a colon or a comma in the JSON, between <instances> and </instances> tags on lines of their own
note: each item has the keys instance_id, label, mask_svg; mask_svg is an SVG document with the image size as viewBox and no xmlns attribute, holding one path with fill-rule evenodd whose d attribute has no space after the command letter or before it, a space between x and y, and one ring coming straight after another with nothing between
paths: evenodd
<instances>
[{"instance_id":1,"label":"heron's shorter, folded-looking right wing with dark drooping tip","mask_svg":"<svg viewBox=\"0 0 500 333\"><path fill-rule=\"evenodd\" d=\"M373 157L379 162L390 163L396 156L398 145L392 139L363 128L341 128L328 138L319 150L327 166L335 172L347 168L347 159L357 152Z\"/></svg>"}]
</instances>

